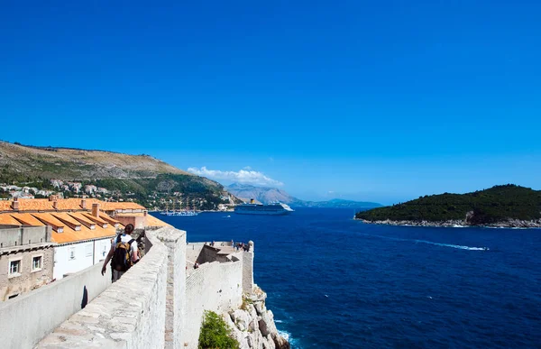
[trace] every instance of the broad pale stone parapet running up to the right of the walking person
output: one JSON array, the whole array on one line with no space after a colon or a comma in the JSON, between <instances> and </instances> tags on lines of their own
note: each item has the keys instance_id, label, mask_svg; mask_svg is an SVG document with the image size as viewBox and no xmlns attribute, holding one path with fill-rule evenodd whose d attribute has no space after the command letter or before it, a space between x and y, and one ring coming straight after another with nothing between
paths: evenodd
<instances>
[{"instance_id":1,"label":"broad pale stone parapet running up to the right of the walking person","mask_svg":"<svg viewBox=\"0 0 541 349\"><path fill-rule=\"evenodd\" d=\"M170 241L162 237L162 242L160 234L172 236L169 230L176 231L167 227L148 232L151 249L141 262L36 347L163 348Z\"/></svg>"}]
</instances>

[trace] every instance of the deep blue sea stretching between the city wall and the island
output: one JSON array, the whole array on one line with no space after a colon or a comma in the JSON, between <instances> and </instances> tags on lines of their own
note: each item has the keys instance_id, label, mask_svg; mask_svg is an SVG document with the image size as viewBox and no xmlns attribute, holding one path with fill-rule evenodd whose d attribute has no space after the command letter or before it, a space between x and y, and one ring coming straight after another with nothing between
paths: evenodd
<instances>
[{"instance_id":1,"label":"deep blue sea stretching between the city wall and the island","mask_svg":"<svg viewBox=\"0 0 541 349\"><path fill-rule=\"evenodd\" d=\"M353 213L160 219L192 242L253 240L255 282L295 348L541 347L541 230L364 225Z\"/></svg>"}]
</instances>

